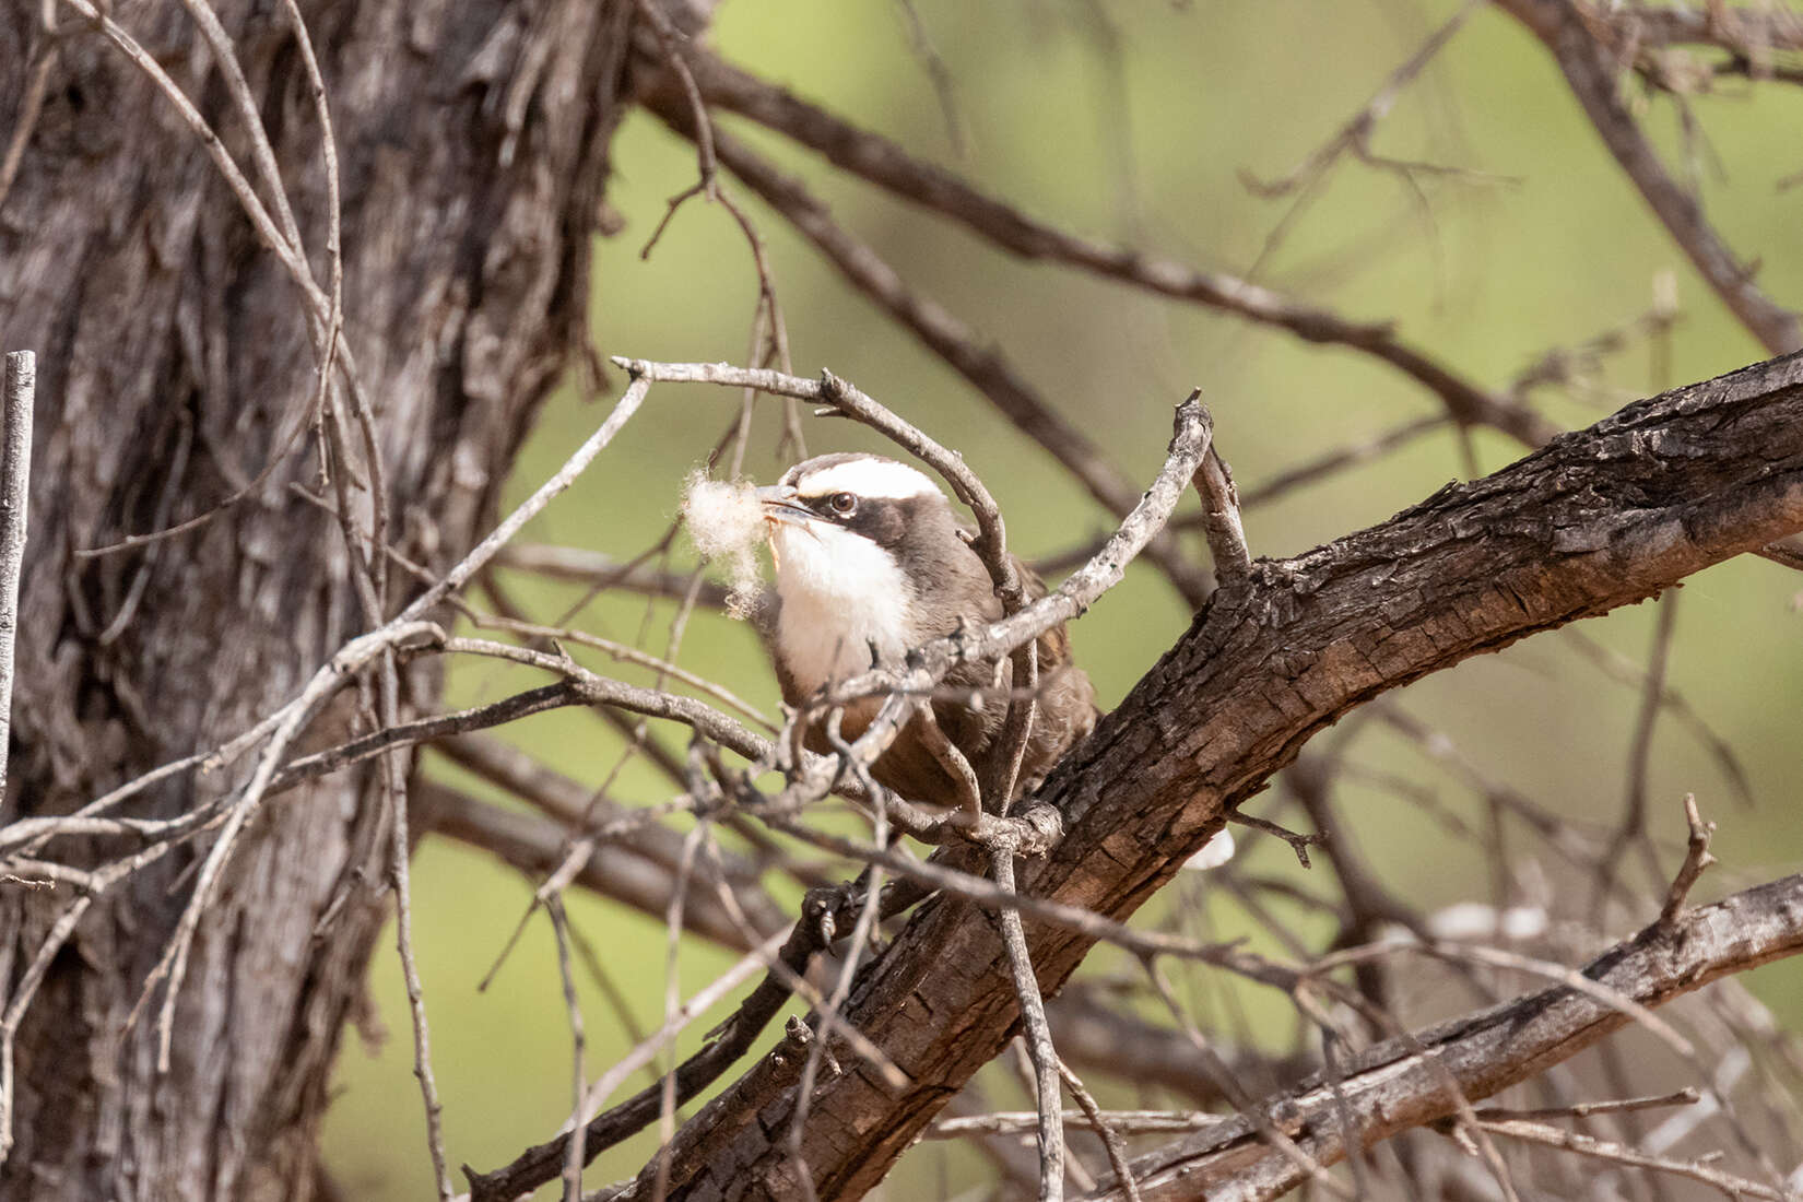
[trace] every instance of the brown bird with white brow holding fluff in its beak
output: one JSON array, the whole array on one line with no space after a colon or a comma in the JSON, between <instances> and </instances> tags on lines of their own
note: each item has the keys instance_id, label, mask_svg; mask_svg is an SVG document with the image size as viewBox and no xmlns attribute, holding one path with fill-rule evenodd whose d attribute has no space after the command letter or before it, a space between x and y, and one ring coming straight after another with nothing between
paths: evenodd
<instances>
[{"instance_id":1,"label":"brown bird with white brow holding fluff in its beak","mask_svg":"<svg viewBox=\"0 0 1803 1202\"><path fill-rule=\"evenodd\" d=\"M907 463L865 452L815 456L757 488L757 501L773 566L757 627L790 706L874 667L900 669L911 649L1002 616L993 580L972 550L974 530ZM1015 569L1030 600L1046 595L1019 559ZM871 764L871 777L916 804L968 804L970 789L932 726L981 777L1006 721L1010 674L1006 660L954 665L930 701L930 717L914 714ZM882 701L846 705L840 735L856 739ZM1071 661L1064 624L1051 627L1039 636L1035 721L1008 800L1035 791L1098 715L1096 690ZM829 750L824 717L808 724L804 742Z\"/></svg>"}]
</instances>

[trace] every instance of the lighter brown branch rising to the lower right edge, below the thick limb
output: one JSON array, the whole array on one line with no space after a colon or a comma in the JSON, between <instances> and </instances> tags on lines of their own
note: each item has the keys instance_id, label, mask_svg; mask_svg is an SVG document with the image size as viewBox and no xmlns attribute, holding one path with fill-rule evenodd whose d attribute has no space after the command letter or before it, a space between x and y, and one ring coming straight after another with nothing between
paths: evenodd
<instances>
[{"instance_id":1,"label":"lighter brown branch rising to the lower right edge, below the thick limb","mask_svg":"<svg viewBox=\"0 0 1803 1202\"><path fill-rule=\"evenodd\" d=\"M1662 1006L1727 973L1803 952L1799 906L1803 876L1760 885L1691 910L1671 928L1648 926L1594 959L1585 977L1641 1006ZM1455 1018L1412 1040L1381 1043L1354 1058L1338 1088L1359 1123L1359 1143L1370 1146L1455 1112L1446 1078L1410 1047L1412 1042L1451 1072L1466 1099L1478 1099L1529 1079L1626 1024L1619 1009L1556 986ZM1262 1099L1258 1110L1280 1121L1314 1161L1332 1164L1345 1157L1345 1110L1320 1076ZM1221 1197L1248 1200L1277 1198L1304 1180L1293 1161L1258 1144L1251 1121L1240 1115L1141 1157L1134 1171L1147 1202L1194 1198L1204 1191L1210 1197L1221 1191Z\"/></svg>"}]
</instances>

